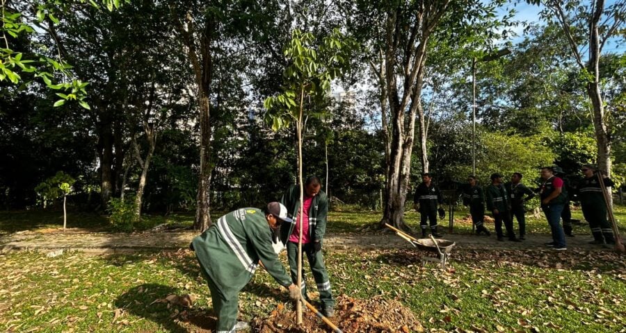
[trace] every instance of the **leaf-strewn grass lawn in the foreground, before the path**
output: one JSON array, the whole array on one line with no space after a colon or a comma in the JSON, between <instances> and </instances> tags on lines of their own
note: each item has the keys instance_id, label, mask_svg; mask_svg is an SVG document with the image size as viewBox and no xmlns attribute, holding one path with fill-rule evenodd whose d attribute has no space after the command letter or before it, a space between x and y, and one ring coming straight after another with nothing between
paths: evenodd
<instances>
[{"instance_id":1,"label":"leaf-strewn grass lawn in the foreground, before the path","mask_svg":"<svg viewBox=\"0 0 626 333\"><path fill-rule=\"evenodd\" d=\"M612 252L459 251L454 271L422 268L417 257L332 252L326 266L335 294L399 300L430 332L624 332L626 262ZM0 270L1 332L193 332L211 314L190 251L10 253ZM165 300L185 293L195 297L191 309ZM279 303L287 293L259 270L240 296L240 317L265 317Z\"/></svg>"}]
</instances>

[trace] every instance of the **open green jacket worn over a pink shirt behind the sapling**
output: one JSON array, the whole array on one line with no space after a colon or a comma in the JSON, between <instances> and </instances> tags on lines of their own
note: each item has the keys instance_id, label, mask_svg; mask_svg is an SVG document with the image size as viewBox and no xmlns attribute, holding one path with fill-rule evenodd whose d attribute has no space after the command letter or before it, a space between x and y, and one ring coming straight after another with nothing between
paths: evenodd
<instances>
[{"instance_id":1,"label":"open green jacket worn over a pink shirt behind the sapling","mask_svg":"<svg viewBox=\"0 0 626 333\"><path fill-rule=\"evenodd\" d=\"M280 240L282 244L287 244L289 235L294 232L296 226L295 216L300 210L300 185L291 185L287 192L282 195L280 203L287 207L287 212L291 213L294 221L291 223L282 223L280 225ZM324 191L319 191L313 197L313 202L309 209L309 235L311 241L322 241L326 233L326 216L328 216L328 196ZM303 221L304 223L304 221Z\"/></svg>"}]
</instances>

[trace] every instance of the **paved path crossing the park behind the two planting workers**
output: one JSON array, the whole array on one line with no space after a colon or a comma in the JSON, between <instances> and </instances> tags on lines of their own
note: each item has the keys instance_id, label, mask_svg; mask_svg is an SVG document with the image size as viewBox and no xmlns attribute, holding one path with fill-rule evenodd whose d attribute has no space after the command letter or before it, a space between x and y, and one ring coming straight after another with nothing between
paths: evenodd
<instances>
[{"instance_id":1,"label":"paved path crossing the park behind the two planting workers","mask_svg":"<svg viewBox=\"0 0 626 333\"><path fill-rule=\"evenodd\" d=\"M186 248L198 232L141 232L133 234L109 232L81 232L77 230L24 231L13 234L0 234L0 253L13 250L77 250L85 253L132 253L136 251L178 250ZM543 244L552 241L548 234L531 234L526 241L497 241L491 237L471 234L444 234L444 239L456 242L458 249L511 249L522 250L545 248ZM604 249L602 246L587 244L590 236L568 237L568 248ZM324 239L328 248L337 250L373 248L410 248L408 241L392 233L328 234Z\"/></svg>"}]
</instances>

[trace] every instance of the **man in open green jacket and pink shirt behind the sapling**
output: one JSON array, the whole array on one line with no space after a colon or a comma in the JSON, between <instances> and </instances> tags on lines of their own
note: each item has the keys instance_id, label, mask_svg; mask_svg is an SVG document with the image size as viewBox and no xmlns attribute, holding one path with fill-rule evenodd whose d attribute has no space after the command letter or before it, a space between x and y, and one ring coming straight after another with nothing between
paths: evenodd
<instances>
[{"instance_id":1,"label":"man in open green jacket and pink shirt behind the sapling","mask_svg":"<svg viewBox=\"0 0 626 333\"><path fill-rule=\"evenodd\" d=\"M319 178L312 176L307 178L304 186L303 223L302 223L302 248L313 273L313 278L319 291L319 300L323 313L332 317L335 314L335 298L332 297L330 279L321 251L324 233L326 232L326 216L328 215L328 197L321 191ZM296 282L298 277L298 238L300 237L300 188L299 185L291 185L282 196L281 203L287 207L291 216L296 216L292 223L283 223L280 227L280 240L287 245L287 259L289 259L289 271L291 280ZM304 259L304 256L303 256ZM303 260L304 261L304 260ZM300 288L303 297L308 300L305 274L303 265L303 280Z\"/></svg>"}]
</instances>

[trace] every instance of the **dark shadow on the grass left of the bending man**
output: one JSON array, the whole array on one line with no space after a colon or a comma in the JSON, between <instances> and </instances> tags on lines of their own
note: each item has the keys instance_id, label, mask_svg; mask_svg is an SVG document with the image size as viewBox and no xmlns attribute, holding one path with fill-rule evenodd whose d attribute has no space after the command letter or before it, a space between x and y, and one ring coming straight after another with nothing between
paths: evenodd
<instances>
[{"instance_id":1,"label":"dark shadow on the grass left of the bending man","mask_svg":"<svg viewBox=\"0 0 626 333\"><path fill-rule=\"evenodd\" d=\"M175 310L184 311L179 305L170 305L168 302L154 302L164 300L168 295L177 294L178 290L163 284L141 284L133 287L120 295L115 300L115 307L125 312L145 318L147 321L157 323L168 332L189 332L187 325L193 325L193 331L212 332L215 330L216 318L212 311L189 310L185 315L176 320Z\"/></svg>"}]
</instances>

